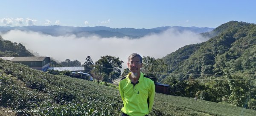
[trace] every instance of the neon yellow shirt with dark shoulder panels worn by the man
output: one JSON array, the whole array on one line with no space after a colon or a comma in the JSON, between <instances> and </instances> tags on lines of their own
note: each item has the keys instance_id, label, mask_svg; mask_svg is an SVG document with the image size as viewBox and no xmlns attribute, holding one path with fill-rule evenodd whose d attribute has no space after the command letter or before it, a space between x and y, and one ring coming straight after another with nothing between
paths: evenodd
<instances>
[{"instance_id":1,"label":"neon yellow shirt with dark shoulder panels worn by the man","mask_svg":"<svg viewBox=\"0 0 256 116\"><path fill-rule=\"evenodd\" d=\"M139 81L133 84L129 75L131 73L119 82L119 92L124 104L122 112L129 116L148 115L154 103L154 81L140 73Z\"/></svg>"}]
</instances>

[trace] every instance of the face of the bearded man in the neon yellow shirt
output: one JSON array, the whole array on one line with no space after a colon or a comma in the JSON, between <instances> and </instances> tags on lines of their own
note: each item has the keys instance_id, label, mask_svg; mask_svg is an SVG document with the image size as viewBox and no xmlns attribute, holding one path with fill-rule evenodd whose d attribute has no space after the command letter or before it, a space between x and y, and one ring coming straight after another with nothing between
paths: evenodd
<instances>
[{"instance_id":1,"label":"face of the bearded man in the neon yellow shirt","mask_svg":"<svg viewBox=\"0 0 256 116\"><path fill-rule=\"evenodd\" d=\"M128 62L127 65L132 73L140 73L140 68L142 68L142 63L140 62L139 56L130 58L130 62Z\"/></svg>"}]
</instances>

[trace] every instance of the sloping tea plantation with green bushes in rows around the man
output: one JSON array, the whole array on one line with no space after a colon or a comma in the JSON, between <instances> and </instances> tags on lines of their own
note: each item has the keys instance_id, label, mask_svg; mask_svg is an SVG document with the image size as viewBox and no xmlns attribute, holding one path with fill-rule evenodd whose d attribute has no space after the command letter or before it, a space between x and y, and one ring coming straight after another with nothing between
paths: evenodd
<instances>
[{"instance_id":1,"label":"sloping tea plantation with green bushes in rows around the man","mask_svg":"<svg viewBox=\"0 0 256 116\"><path fill-rule=\"evenodd\" d=\"M0 107L25 116L120 116L122 99L119 91L110 86L51 75L0 59ZM0 114L8 115L6 111ZM150 116L255 115L256 110L158 93L150 113Z\"/></svg>"}]
</instances>

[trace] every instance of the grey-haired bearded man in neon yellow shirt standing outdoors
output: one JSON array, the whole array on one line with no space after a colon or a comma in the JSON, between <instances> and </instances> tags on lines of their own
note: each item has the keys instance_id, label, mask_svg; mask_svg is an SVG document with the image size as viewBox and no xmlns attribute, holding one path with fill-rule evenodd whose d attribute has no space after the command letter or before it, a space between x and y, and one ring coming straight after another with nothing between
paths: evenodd
<instances>
[{"instance_id":1,"label":"grey-haired bearded man in neon yellow shirt standing outdoors","mask_svg":"<svg viewBox=\"0 0 256 116\"><path fill-rule=\"evenodd\" d=\"M122 116L148 116L154 102L154 81L140 72L143 63L139 54L131 54L127 65L131 72L119 82Z\"/></svg>"}]
</instances>

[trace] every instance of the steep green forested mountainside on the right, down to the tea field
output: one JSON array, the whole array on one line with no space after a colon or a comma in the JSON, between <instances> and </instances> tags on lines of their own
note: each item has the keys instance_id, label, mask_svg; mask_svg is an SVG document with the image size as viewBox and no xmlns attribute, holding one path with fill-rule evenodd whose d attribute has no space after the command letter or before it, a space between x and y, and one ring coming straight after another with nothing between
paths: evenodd
<instances>
[{"instance_id":1,"label":"steep green forested mountainside on the right, down to the tea field","mask_svg":"<svg viewBox=\"0 0 256 116\"><path fill-rule=\"evenodd\" d=\"M248 107L256 101L256 24L230 21L204 35L213 37L163 57L171 94Z\"/></svg>"}]
</instances>

